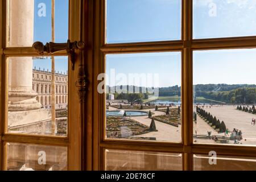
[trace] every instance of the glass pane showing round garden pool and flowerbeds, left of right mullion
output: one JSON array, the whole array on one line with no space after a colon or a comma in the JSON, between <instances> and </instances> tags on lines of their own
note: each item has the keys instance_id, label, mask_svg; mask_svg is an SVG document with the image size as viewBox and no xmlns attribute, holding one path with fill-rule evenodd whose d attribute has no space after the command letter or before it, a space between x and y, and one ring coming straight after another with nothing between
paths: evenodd
<instances>
[{"instance_id":1,"label":"glass pane showing round garden pool and flowerbeds, left of right mullion","mask_svg":"<svg viewBox=\"0 0 256 182\"><path fill-rule=\"evenodd\" d=\"M180 52L106 55L105 81L106 138L181 142Z\"/></svg>"}]
</instances>

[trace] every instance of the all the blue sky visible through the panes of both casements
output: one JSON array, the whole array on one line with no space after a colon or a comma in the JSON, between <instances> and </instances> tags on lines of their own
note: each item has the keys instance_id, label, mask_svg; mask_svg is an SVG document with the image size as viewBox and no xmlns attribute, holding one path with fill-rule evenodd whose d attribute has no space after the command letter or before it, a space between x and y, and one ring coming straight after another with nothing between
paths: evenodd
<instances>
[{"instance_id":1,"label":"all the blue sky visible through the panes of both casements","mask_svg":"<svg viewBox=\"0 0 256 182\"><path fill-rule=\"evenodd\" d=\"M38 17L35 11L34 35L35 41L45 43L51 40L51 0L35 0L35 10L40 2L46 3L47 16ZM180 0L108 0L106 6L107 43L181 39ZM193 38L251 35L256 35L255 0L193 1ZM56 42L67 41L68 0L56 0L55 36ZM256 84L255 57L256 49L194 52L194 84ZM109 75L110 69L126 75L158 73L159 86L181 82L179 52L108 55L106 61ZM36 61L35 65L50 69L51 60ZM66 71L67 60L65 64L57 61L56 70Z\"/></svg>"}]
</instances>

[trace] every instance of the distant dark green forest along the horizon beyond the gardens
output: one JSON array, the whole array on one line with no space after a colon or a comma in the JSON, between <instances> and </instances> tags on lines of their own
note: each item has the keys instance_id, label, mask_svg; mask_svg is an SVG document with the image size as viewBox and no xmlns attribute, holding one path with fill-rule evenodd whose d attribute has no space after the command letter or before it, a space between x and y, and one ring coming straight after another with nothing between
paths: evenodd
<instances>
[{"instance_id":1,"label":"distant dark green forest along the horizon beyond the gardens","mask_svg":"<svg viewBox=\"0 0 256 182\"><path fill-rule=\"evenodd\" d=\"M127 90L129 90L129 86ZM121 86L121 89L123 87ZM147 99L150 93L143 93L143 90L147 91L147 88L130 86L133 90L139 90L137 94L139 99ZM110 93L110 89L114 90L114 88L107 88ZM225 102L226 104L255 104L256 103L256 85L228 85L228 84L206 84L206 85L193 85L194 90L194 100L198 97L203 97L208 100L215 100L220 102ZM171 96L179 96L181 94L180 86L170 86L165 88L159 88L159 97L171 97ZM115 99L119 100L127 100L129 94L125 93L115 93ZM135 95L134 95L135 97Z\"/></svg>"}]
</instances>

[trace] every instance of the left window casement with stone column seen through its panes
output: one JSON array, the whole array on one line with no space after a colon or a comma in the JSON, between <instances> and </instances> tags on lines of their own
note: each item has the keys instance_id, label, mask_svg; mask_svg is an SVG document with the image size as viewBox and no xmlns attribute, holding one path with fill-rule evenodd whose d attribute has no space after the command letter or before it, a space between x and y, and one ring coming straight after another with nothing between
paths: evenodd
<instances>
[{"instance_id":1,"label":"left window casement with stone column seen through its panes","mask_svg":"<svg viewBox=\"0 0 256 182\"><path fill-rule=\"evenodd\" d=\"M69 58L65 51L44 52L42 56L32 47L37 41L46 44L79 40L73 35L78 34L80 16L76 12L82 10L81 6L69 0L4 0L0 3L0 67L5 70L4 74L1 71L0 170L81 168L80 146L71 142L81 138L78 127L80 106L73 101L79 100L77 89L74 87L69 94L70 101L74 102L72 109L67 106L59 110L55 107L55 93L47 92L56 85L55 79L47 80L48 75L54 77L54 68L74 73L79 68L73 71L68 67ZM69 24L75 34L69 35ZM79 63L78 57L75 59ZM70 81L75 85L75 75L70 76ZM72 123L68 122L69 114L74 115Z\"/></svg>"}]
</instances>

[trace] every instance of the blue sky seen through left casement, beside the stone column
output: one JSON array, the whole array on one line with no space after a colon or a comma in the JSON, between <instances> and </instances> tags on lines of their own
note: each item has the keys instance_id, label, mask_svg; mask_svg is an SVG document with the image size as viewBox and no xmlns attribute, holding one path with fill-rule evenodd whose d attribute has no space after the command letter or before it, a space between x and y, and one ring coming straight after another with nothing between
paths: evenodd
<instances>
[{"instance_id":1,"label":"blue sky seen through left casement, beside the stone column","mask_svg":"<svg viewBox=\"0 0 256 182\"><path fill-rule=\"evenodd\" d=\"M39 16L38 7L40 3L46 5L46 16ZM40 41L44 44L51 42L51 0L35 0L35 14L34 14L34 42ZM63 43L68 40L68 0L55 0L55 42ZM44 57L44 59L35 59L34 67L42 70L49 69L51 71L51 57ZM68 58L67 56L55 57L56 72L67 72Z\"/></svg>"}]
</instances>

